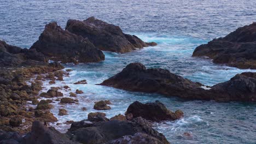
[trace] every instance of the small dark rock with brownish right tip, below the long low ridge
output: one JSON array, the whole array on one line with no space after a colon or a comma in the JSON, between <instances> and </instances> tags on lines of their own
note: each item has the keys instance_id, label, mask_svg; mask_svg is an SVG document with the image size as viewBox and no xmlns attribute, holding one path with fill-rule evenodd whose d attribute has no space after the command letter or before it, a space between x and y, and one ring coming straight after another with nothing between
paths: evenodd
<instances>
[{"instance_id":1,"label":"small dark rock with brownish right tip, below the long low ridge","mask_svg":"<svg viewBox=\"0 0 256 144\"><path fill-rule=\"evenodd\" d=\"M177 110L176 112L171 112L168 110L164 104L160 101L155 101L155 103L142 104L139 101L133 102L129 105L126 115L132 114L133 118L142 117L150 121L174 121L176 119L183 117L183 112Z\"/></svg>"}]
</instances>

